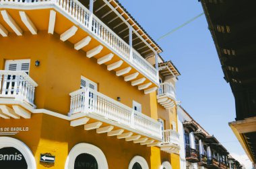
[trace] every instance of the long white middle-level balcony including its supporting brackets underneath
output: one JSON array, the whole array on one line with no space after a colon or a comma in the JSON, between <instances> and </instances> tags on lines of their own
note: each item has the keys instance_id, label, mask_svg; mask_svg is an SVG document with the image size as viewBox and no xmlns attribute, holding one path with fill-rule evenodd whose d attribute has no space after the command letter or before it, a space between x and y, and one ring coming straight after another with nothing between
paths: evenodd
<instances>
[{"instance_id":1,"label":"long white middle-level balcony including its supporting brackets underneath","mask_svg":"<svg viewBox=\"0 0 256 169\"><path fill-rule=\"evenodd\" d=\"M162 141L161 123L125 104L90 88L82 88L72 92L70 96L69 115L84 114L86 116L84 121L79 119L71 121L72 126L77 126L77 123L84 125L85 129L97 129L97 133L98 130L100 133L108 132L110 136L117 132L115 135L118 138L125 138L134 143L152 144L155 142L157 144ZM92 123L90 123L91 120Z\"/></svg>"}]
</instances>

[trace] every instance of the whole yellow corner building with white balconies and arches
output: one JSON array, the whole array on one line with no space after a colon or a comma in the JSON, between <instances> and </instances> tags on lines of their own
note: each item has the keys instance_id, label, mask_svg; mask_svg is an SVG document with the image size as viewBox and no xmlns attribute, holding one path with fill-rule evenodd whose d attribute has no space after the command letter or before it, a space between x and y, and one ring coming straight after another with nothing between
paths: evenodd
<instances>
[{"instance_id":1,"label":"whole yellow corner building with white balconies and arches","mask_svg":"<svg viewBox=\"0 0 256 169\"><path fill-rule=\"evenodd\" d=\"M179 168L179 71L118 1L0 0L0 168Z\"/></svg>"}]
</instances>

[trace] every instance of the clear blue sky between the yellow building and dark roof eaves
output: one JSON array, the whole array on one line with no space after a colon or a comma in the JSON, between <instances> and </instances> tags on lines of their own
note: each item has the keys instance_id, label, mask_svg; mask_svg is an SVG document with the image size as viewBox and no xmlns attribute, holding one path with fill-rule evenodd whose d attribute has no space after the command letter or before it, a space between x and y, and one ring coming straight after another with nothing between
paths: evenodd
<instances>
[{"instance_id":1,"label":"clear blue sky between the yellow building and dark roof eaves","mask_svg":"<svg viewBox=\"0 0 256 169\"><path fill-rule=\"evenodd\" d=\"M162 57L171 60L181 72L177 82L181 105L231 154L245 160L245 151L228 126L235 118L234 96L223 79L205 15L158 41L163 34L202 13L201 3L197 0L119 1L160 44L164 50Z\"/></svg>"}]
</instances>

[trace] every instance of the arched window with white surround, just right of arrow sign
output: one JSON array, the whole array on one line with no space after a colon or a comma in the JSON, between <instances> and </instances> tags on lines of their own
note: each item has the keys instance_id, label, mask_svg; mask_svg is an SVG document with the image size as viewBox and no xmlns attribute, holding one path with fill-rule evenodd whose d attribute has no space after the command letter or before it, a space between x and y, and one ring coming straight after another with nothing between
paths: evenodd
<instances>
[{"instance_id":1,"label":"arched window with white surround, just right of arrow sign","mask_svg":"<svg viewBox=\"0 0 256 169\"><path fill-rule=\"evenodd\" d=\"M67 156L65 169L108 169L104 153L95 145L79 143Z\"/></svg>"}]
</instances>

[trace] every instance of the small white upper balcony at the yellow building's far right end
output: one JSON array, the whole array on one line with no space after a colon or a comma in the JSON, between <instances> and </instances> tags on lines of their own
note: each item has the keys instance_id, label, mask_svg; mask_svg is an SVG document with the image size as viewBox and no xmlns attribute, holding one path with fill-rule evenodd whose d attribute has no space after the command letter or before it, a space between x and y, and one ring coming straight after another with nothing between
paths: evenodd
<instances>
[{"instance_id":1,"label":"small white upper balcony at the yellow building's far right end","mask_svg":"<svg viewBox=\"0 0 256 169\"><path fill-rule=\"evenodd\" d=\"M160 83L158 88L158 103L160 103L164 108L172 108L176 104L176 94L175 88L171 83Z\"/></svg>"}]
</instances>

